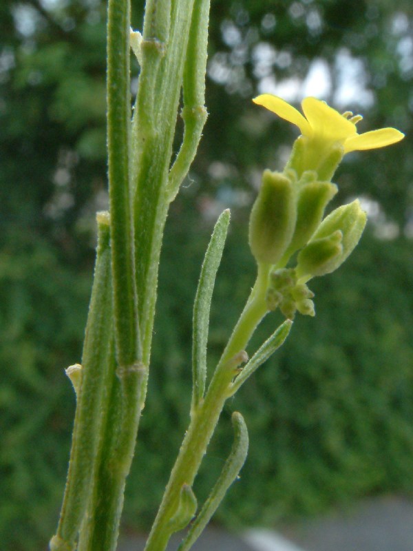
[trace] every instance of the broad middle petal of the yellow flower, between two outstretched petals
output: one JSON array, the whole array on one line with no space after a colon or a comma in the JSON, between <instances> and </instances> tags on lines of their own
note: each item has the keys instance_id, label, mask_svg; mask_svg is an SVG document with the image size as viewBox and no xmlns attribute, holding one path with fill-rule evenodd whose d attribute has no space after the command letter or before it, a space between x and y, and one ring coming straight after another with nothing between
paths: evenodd
<instances>
[{"instance_id":1,"label":"broad middle petal of the yellow flower, between two outstretched petals","mask_svg":"<svg viewBox=\"0 0 413 551\"><path fill-rule=\"evenodd\" d=\"M317 98L304 98L303 112L315 136L326 141L343 142L357 133L356 125Z\"/></svg>"}]
</instances>

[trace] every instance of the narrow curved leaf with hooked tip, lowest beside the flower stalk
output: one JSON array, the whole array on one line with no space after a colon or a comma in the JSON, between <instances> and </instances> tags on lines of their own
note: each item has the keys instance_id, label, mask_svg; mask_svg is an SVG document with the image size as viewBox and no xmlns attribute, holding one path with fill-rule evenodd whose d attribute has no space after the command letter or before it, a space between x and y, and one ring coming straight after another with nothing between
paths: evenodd
<instances>
[{"instance_id":1,"label":"narrow curved leaf with hooked tip, lowest beside the flower stalk","mask_svg":"<svg viewBox=\"0 0 413 551\"><path fill-rule=\"evenodd\" d=\"M198 517L193 521L192 526L187 534L187 537L180 544L178 551L188 551L195 541L200 537L205 526L211 520L212 515L218 509L222 499L231 486L233 481L237 479L242 466L244 465L246 454L248 453L248 430L241 413L235 411L232 415L234 429L234 443L228 459L224 464L220 478L211 490L207 501L200 510Z\"/></svg>"}]
</instances>

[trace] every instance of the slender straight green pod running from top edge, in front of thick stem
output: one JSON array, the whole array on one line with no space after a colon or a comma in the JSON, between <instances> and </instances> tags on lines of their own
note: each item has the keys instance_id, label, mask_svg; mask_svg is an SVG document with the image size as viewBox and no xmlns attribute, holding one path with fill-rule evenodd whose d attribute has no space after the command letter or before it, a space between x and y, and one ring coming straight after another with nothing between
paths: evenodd
<instances>
[{"instance_id":1,"label":"slender straight green pod running from top edge, in front of thick stem","mask_svg":"<svg viewBox=\"0 0 413 551\"><path fill-rule=\"evenodd\" d=\"M129 0L107 10L107 151L116 355L120 366L140 359L129 191Z\"/></svg>"}]
</instances>

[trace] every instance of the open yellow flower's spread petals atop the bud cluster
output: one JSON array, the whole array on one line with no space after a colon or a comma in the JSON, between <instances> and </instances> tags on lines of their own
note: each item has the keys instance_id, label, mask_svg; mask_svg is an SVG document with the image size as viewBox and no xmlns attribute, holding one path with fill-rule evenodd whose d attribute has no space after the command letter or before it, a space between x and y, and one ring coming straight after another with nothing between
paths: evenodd
<instances>
[{"instance_id":1,"label":"open yellow flower's spread petals atop the bud cluster","mask_svg":"<svg viewBox=\"0 0 413 551\"><path fill-rule=\"evenodd\" d=\"M343 147L343 154L346 154L385 147L404 137L395 128L381 128L357 134L356 124L361 121L361 116L352 116L351 112L340 114L317 98L304 98L301 107L305 116L282 98L271 94L257 96L253 102L299 127L302 136L306 136L313 146L317 144L323 150L338 144Z\"/></svg>"}]
</instances>

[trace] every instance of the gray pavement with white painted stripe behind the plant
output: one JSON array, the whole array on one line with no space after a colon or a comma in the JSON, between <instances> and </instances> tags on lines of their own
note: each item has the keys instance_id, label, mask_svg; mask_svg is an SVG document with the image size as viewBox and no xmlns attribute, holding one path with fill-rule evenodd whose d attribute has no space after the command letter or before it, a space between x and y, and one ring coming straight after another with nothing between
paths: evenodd
<instances>
[{"instance_id":1,"label":"gray pavement with white painted stripe behind the plant","mask_svg":"<svg viewBox=\"0 0 413 551\"><path fill-rule=\"evenodd\" d=\"M180 537L168 551L176 551ZM119 551L143 551L143 537L126 537ZM403 497L365 499L325 517L228 534L208 528L193 551L413 551L413 501Z\"/></svg>"}]
</instances>

